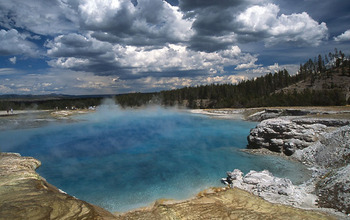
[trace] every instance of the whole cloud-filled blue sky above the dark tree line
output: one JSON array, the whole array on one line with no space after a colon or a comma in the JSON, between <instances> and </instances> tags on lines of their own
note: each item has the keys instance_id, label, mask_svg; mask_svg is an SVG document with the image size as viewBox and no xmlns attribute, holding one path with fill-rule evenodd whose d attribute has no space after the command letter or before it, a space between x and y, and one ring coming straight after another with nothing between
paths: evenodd
<instances>
[{"instance_id":1,"label":"whole cloud-filled blue sky above the dark tree line","mask_svg":"<svg viewBox=\"0 0 350 220\"><path fill-rule=\"evenodd\" d=\"M0 94L237 83L335 48L350 55L350 1L0 1Z\"/></svg>"}]
</instances>

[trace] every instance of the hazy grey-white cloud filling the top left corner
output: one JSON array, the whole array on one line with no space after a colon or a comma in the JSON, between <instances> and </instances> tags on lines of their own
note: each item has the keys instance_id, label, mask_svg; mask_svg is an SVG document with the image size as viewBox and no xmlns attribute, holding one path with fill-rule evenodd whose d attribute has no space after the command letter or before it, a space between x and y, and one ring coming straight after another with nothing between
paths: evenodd
<instances>
[{"instance_id":1,"label":"hazy grey-white cloud filling the top left corner","mask_svg":"<svg viewBox=\"0 0 350 220\"><path fill-rule=\"evenodd\" d=\"M68 33L78 27L75 0L0 1L0 25L42 35Z\"/></svg>"}]
</instances>

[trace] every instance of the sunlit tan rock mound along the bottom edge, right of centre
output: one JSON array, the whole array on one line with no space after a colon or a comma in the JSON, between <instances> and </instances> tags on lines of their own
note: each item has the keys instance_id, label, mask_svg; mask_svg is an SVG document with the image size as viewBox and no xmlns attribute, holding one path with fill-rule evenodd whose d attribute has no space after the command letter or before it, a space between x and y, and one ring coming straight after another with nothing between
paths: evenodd
<instances>
[{"instance_id":1,"label":"sunlit tan rock mound along the bottom edge, right of centre","mask_svg":"<svg viewBox=\"0 0 350 220\"><path fill-rule=\"evenodd\" d=\"M159 200L118 219L336 219L321 212L269 203L238 188L208 190L186 201Z\"/></svg>"}]
</instances>

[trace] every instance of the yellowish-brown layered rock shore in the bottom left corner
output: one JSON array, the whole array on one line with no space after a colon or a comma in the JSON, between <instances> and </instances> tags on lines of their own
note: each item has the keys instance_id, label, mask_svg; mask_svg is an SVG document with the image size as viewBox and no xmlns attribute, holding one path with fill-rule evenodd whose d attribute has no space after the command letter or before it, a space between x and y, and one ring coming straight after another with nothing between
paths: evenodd
<instances>
[{"instance_id":1,"label":"yellowish-brown layered rock shore in the bottom left corner","mask_svg":"<svg viewBox=\"0 0 350 220\"><path fill-rule=\"evenodd\" d=\"M60 191L40 177L40 161L0 153L0 219L114 219L110 212Z\"/></svg>"}]
</instances>

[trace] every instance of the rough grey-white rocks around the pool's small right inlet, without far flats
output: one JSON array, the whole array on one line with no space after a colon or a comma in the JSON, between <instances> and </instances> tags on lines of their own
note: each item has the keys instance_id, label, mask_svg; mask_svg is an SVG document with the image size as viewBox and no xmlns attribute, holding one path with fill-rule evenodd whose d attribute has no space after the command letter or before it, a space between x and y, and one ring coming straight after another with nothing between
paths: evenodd
<instances>
[{"instance_id":1,"label":"rough grey-white rocks around the pool's small right inlet, without far flats","mask_svg":"<svg viewBox=\"0 0 350 220\"><path fill-rule=\"evenodd\" d=\"M350 120L345 119L279 117L264 120L251 130L248 148L266 148L290 156L313 170L312 179L301 186L300 191L300 187L290 185L288 181L279 184L281 180L264 177L268 174L249 173L243 177L240 172L234 171L228 173L226 183L252 192L255 190L268 200L279 201L275 197L280 194L286 201L290 200L291 205L304 202L300 200L302 197L298 200L298 195L313 194L317 196L315 205L318 207L333 208L349 215L349 124ZM254 183L249 182L249 176L255 176ZM269 193L274 196L266 195Z\"/></svg>"}]
</instances>

